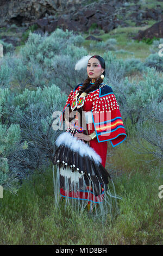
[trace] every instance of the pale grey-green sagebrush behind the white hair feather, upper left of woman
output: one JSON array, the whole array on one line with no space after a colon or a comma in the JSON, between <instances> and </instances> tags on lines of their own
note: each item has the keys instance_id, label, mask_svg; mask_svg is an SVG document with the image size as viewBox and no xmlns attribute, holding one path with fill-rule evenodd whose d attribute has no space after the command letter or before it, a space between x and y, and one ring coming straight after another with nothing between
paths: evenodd
<instances>
[{"instance_id":1,"label":"pale grey-green sagebrush behind the white hair feather, upper left of woman","mask_svg":"<svg viewBox=\"0 0 163 256\"><path fill-rule=\"evenodd\" d=\"M10 87L14 92L22 93L25 88L43 88L45 84L51 86L54 83L67 94L70 93L86 76L84 70L80 73L74 70L77 60L87 54L81 47L83 40L83 36L61 29L56 29L49 36L30 32L18 57L8 53L3 58L0 71L1 88Z\"/></svg>"}]
</instances>

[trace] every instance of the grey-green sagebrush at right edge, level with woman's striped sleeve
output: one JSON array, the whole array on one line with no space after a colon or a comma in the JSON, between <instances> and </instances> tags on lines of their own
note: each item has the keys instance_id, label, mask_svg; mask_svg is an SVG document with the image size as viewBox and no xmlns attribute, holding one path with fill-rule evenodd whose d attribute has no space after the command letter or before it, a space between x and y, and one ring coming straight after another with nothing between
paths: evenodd
<instances>
[{"instance_id":1,"label":"grey-green sagebrush at right edge, level with woman's striped sleeve","mask_svg":"<svg viewBox=\"0 0 163 256\"><path fill-rule=\"evenodd\" d=\"M163 97L163 77L158 76L155 68L147 68L139 82L131 83L128 77L112 82L124 120L129 117L132 125L137 123L141 112L153 99L159 103Z\"/></svg>"}]
</instances>

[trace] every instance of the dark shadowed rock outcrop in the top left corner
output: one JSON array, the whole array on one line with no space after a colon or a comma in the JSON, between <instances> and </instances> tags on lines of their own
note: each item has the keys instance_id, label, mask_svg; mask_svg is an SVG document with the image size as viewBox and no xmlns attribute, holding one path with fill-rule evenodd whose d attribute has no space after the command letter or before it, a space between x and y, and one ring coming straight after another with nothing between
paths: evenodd
<instances>
[{"instance_id":1,"label":"dark shadowed rock outcrop in the top left corner","mask_svg":"<svg viewBox=\"0 0 163 256\"><path fill-rule=\"evenodd\" d=\"M78 5L79 0L1 0L0 27L14 22L22 25L45 15L62 13L70 3Z\"/></svg>"}]
</instances>

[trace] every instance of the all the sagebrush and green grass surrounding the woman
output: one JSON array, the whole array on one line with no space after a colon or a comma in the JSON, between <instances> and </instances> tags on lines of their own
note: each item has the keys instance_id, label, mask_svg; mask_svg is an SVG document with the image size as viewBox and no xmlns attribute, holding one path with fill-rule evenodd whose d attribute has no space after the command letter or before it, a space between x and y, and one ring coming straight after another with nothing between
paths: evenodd
<instances>
[{"instance_id":1,"label":"all the sagebrush and green grass surrounding the woman","mask_svg":"<svg viewBox=\"0 0 163 256\"><path fill-rule=\"evenodd\" d=\"M131 33L139 29L102 31L97 45L84 40L87 34L61 29L49 36L29 32L17 55L5 52L0 63L1 245L162 244L163 77L156 57L161 41L133 41ZM122 199L120 213L114 219L108 215L105 223L86 210L77 215L64 201L60 209L54 205L52 157L59 133L52 129L52 113L62 110L66 94L86 76L85 70L74 70L85 54L105 59L105 82L116 95L128 135L115 148L108 142L106 169Z\"/></svg>"}]
</instances>

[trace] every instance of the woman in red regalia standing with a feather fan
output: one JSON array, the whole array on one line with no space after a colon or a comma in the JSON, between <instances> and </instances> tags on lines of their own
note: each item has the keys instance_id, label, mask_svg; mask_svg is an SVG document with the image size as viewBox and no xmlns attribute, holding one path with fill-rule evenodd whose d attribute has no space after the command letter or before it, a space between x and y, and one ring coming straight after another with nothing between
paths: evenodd
<instances>
[{"instance_id":1,"label":"woman in red regalia standing with a feather fan","mask_svg":"<svg viewBox=\"0 0 163 256\"><path fill-rule=\"evenodd\" d=\"M83 59L76 65L78 70L85 66ZM92 56L86 62L88 78L71 91L60 117L60 124L65 120L68 129L55 142L58 185L54 187L60 187L66 202L82 209L87 205L90 211L95 206L96 214L103 214L110 204L109 179L112 182L104 168L107 143L115 147L127 136L115 95L103 83L104 59Z\"/></svg>"}]
</instances>

